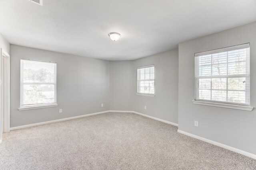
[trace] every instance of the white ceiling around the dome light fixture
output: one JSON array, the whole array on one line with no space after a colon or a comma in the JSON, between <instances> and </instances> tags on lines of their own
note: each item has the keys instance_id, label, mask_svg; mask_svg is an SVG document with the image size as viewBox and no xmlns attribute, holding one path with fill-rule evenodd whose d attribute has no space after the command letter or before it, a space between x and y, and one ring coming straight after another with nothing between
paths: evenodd
<instances>
[{"instance_id":1,"label":"white ceiling around the dome light fixture","mask_svg":"<svg viewBox=\"0 0 256 170\"><path fill-rule=\"evenodd\" d=\"M105 60L146 57L253 21L256 0L0 0L0 33L11 44Z\"/></svg>"}]
</instances>

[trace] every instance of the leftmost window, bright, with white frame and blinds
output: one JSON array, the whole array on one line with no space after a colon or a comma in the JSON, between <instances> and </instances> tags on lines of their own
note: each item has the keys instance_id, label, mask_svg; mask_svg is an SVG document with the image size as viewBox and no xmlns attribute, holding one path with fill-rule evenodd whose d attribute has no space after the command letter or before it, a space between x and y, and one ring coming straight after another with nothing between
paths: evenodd
<instances>
[{"instance_id":1,"label":"leftmost window, bright, with white frame and blinds","mask_svg":"<svg viewBox=\"0 0 256 170\"><path fill-rule=\"evenodd\" d=\"M56 63L20 60L20 110L57 106Z\"/></svg>"}]
</instances>

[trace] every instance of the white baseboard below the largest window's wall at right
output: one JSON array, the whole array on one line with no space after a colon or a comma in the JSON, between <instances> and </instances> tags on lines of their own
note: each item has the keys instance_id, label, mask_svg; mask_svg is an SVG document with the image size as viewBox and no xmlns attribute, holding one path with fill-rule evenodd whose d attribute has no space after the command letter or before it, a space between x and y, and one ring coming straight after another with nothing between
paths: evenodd
<instances>
[{"instance_id":1,"label":"white baseboard below the largest window's wall at right","mask_svg":"<svg viewBox=\"0 0 256 170\"><path fill-rule=\"evenodd\" d=\"M212 140L210 140L210 139L206 139L206 138L203 138L203 137L200 137L200 136L197 136L197 135L193 135L193 134L191 134L191 133L184 132L184 131L181 131L181 130L178 130L178 133L182 133L182 134L184 134L184 135L187 135L187 136L190 136L190 137L199 139L199 140L201 140L201 141L210 143L210 144L212 144L212 145L216 145L216 146L218 146L218 147L222 147L222 148L224 148L224 149L228 149L228 150L231 150L231 151L233 151L233 152L237 152L237 153L239 153L239 154L243 154L243 155L245 155L245 156L248 156L248 157L251 157L251 158L256 159L256 154L252 154L252 153L246 152L246 151L244 151L244 150L236 149L236 148L234 148L234 147L230 147L230 146L228 146L228 145L224 145L224 144L222 144L222 143L218 143L218 142L212 141Z\"/></svg>"}]
</instances>

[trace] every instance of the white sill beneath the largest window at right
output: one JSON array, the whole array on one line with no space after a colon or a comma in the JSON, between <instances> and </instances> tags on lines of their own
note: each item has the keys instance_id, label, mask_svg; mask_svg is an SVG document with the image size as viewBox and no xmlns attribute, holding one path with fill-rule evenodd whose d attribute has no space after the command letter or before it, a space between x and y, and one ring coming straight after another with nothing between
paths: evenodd
<instances>
[{"instance_id":1,"label":"white sill beneath the largest window at right","mask_svg":"<svg viewBox=\"0 0 256 170\"><path fill-rule=\"evenodd\" d=\"M206 106L216 106L216 107L225 107L230 109L239 109L239 110L246 110L252 111L253 107L250 106L242 106L242 105L234 105L234 104L224 104L224 103L215 103L215 102L205 102L199 100L193 100L194 104L206 105Z\"/></svg>"}]
</instances>

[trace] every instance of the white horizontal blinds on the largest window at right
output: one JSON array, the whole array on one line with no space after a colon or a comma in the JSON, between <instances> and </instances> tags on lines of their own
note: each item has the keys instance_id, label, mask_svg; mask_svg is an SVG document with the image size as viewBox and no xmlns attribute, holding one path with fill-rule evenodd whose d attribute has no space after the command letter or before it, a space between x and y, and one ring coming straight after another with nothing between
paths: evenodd
<instances>
[{"instance_id":1,"label":"white horizontal blinds on the largest window at right","mask_svg":"<svg viewBox=\"0 0 256 170\"><path fill-rule=\"evenodd\" d=\"M195 100L250 105L250 44L195 54Z\"/></svg>"}]
</instances>

